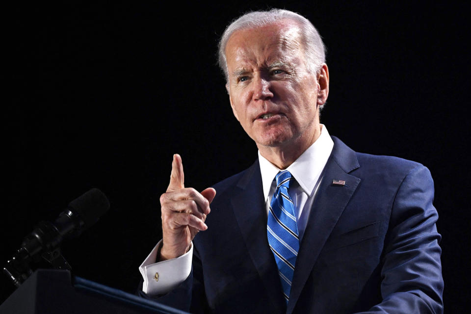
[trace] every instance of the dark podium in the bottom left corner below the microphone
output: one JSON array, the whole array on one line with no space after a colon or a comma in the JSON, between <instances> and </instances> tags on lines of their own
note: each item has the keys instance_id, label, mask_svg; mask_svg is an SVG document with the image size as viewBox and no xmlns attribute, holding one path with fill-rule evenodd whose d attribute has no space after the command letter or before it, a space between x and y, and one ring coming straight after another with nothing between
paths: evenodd
<instances>
[{"instance_id":1,"label":"dark podium in the bottom left corner below the microphone","mask_svg":"<svg viewBox=\"0 0 471 314\"><path fill-rule=\"evenodd\" d=\"M38 269L0 305L0 314L187 314L67 270Z\"/></svg>"}]
</instances>

